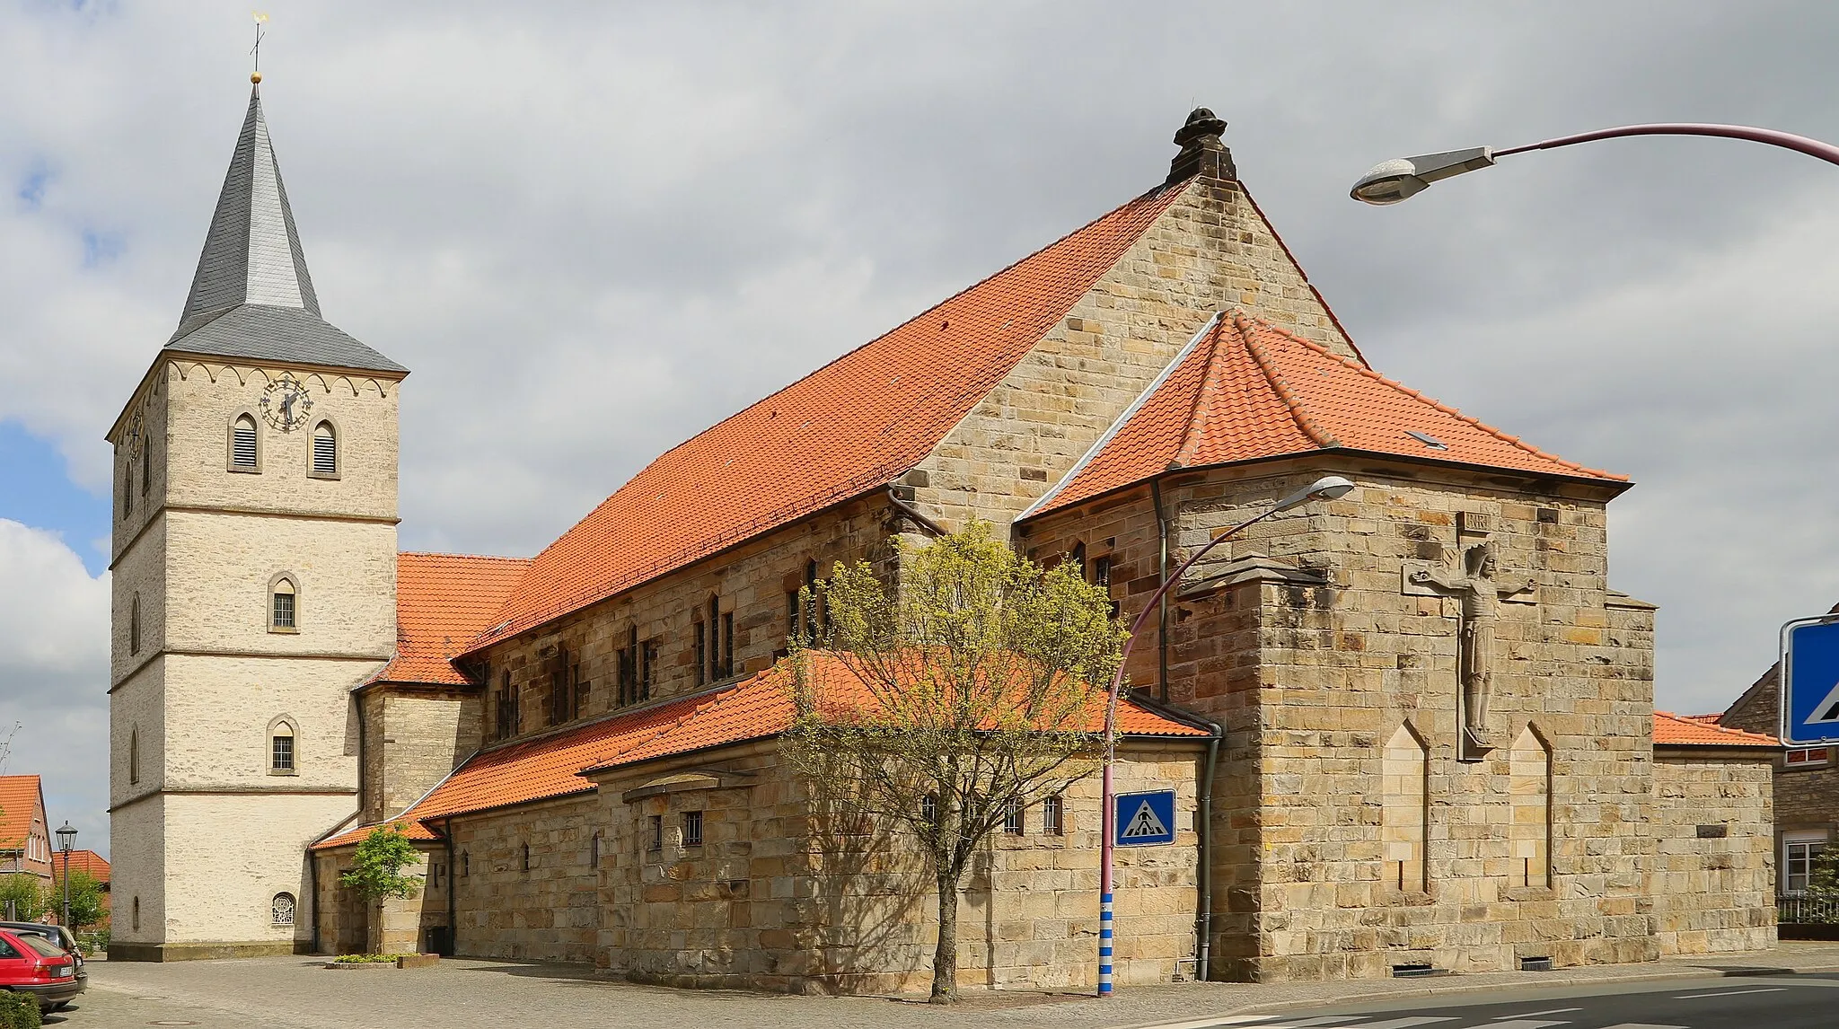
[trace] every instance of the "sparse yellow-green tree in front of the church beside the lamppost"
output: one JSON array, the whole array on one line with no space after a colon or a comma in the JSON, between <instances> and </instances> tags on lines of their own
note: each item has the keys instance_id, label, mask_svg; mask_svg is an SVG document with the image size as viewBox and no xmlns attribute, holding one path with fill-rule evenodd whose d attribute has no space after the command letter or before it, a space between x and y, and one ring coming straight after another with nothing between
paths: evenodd
<instances>
[{"instance_id":1,"label":"sparse yellow-green tree in front of the church beside the lamppost","mask_svg":"<svg viewBox=\"0 0 1839 1029\"><path fill-rule=\"evenodd\" d=\"M918 851L938 897L932 1003L951 1003L971 858L1011 810L1098 770L1125 630L1072 562L1043 570L988 524L896 548L897 584L866 562L824 582L822 638L787 656L782 746L815 810Z\"/></svg>"}]
</instances>

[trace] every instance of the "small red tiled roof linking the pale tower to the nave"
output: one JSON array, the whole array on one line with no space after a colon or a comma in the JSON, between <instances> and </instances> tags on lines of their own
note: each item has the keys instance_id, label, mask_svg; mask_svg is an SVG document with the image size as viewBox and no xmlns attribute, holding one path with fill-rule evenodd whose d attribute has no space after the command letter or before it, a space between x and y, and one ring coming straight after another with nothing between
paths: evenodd
<instances>
[{"instance_id":1,"label":"small red tiled roof linking the pale tower to the nave","mask_svg":"<svg viewBox=\"0 0 1839 1029\"><path fill-rule=\"evenodd\" d=\"M463 685L452 665L530 570L528 557L395 555L395 658L371 682Z\"/></svg>"}]
</instances>

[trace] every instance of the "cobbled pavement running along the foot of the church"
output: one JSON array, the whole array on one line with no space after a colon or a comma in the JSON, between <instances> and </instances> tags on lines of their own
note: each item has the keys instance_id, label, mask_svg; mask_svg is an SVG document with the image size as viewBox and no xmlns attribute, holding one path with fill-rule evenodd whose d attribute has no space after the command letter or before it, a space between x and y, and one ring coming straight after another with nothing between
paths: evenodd
<instances>
[{"instance_id":1,"label":"cobbled pavement running along the foot of the church","mask_svg":"<svg viewBox=\"0 0 1839 1029\"><path fill-rule=\"evenodd\" d=\"M977 994L938 1009L883 998L794 998L725 990L669 990L605 979L572 965L441 961L434 968L331 972L307 957L90 965L90 992L46 1025L120 1029L1100 1029L1160 1025L1234 1012L1434 996L1502 987L1644 981L1742 974L1753 968L1839 970L1839 944L1784 943L1776 950L1696 963L1657 961L1559 972L1495 972L1438 979L1354 983L1175 983L1129 987L1111 1001L1054 994Z\"/></svg>"}]
</instances>

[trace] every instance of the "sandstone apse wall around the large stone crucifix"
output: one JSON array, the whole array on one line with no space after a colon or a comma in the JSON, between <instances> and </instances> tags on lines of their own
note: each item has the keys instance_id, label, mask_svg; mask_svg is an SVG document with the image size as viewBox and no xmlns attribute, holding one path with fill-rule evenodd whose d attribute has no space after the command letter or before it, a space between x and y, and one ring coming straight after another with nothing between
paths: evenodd
<instances>
[{"instance_id":1,"label":"sandstone apse wall around the large stone crucifix","mask_svg":"<svg viewBox=\"0 0 1839 1029\"><path fill-rule=\"evenodd\" d=\"M1640 831L1651 807L1651 610L1607 592L1607 491L1547 485L1541 494L1453 469L1331 461L1164 481L1171 566L1322 472L1361 483L1223 544L1171 605L1170 698L1227 731L1216 779L1216 974L1342 978L1418 961L1482 970L1515 957L1653 957L1642 884L1653 842ZM1030 524L1028 548L1050 555L1081 542L1089 562L1109 557L1113 594L1131 617L1157 582L1146 494ZM1458 513L1473 527L1486 518L1502 579L1539 584L1537 605L1502 605L1491 706L1499 748L1473 763L1455 750L1455 601L1405 590L1409 568L1455 560ZM1232 584L1194 594L1194 582L1251 559L1274 564L1238 566ZM1153 636L1146 643L1131 676L1155 684ZM1401 891L1383 886L1381 772L1387 742L1407 724L1429 744L1427 889ZM1539 876L1528 884L1515 854L1526 831L1515 827L1510 746L1521 739L1550 753L1548 886L1536 886Z\"/></svg>"}]
</instances>

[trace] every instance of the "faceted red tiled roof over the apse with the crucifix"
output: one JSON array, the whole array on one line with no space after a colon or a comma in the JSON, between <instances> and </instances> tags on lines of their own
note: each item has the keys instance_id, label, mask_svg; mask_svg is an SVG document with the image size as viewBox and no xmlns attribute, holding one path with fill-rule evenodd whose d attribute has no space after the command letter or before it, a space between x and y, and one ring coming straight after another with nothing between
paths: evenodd
<instances>
[{"instance_id":1,"label":"faceted red tiled roof over the apse with the crucifix","mask_svg":"<svg viewBox=\"0 0 1839 1029\"><path fill-rule=\"evenodd\" d=\"M1024 518L1059 511L1170 467L1346 447L1491 469L1622 481L1537 450L1357 360L1243 311L1195 336L1109 437ZM1444 448L1409 435L1427 434Z\"/></svg>"}]
</instances>

